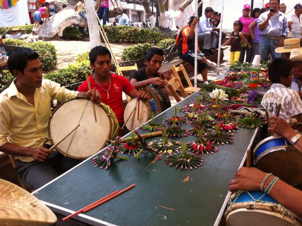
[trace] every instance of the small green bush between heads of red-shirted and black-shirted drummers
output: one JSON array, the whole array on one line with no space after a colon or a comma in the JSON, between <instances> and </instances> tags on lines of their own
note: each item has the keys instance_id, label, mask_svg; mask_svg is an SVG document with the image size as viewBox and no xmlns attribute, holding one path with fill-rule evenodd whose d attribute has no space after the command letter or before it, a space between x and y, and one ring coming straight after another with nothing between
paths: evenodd
<instances>
[{"instance_id":1,"label":"small green bush between heads of red-shirted and black-shirted drummers","mask_svg":"<svg viewBox=\"0 0 302 226\"><path fill-rule=\"evenodd\" d=\"M143 58L151 47L151 44L147 42L143 44L139 43L136 45L130 45L129 47L124 48L121 57L124 61L138 60Z\"/></svg>"}]
</instances>

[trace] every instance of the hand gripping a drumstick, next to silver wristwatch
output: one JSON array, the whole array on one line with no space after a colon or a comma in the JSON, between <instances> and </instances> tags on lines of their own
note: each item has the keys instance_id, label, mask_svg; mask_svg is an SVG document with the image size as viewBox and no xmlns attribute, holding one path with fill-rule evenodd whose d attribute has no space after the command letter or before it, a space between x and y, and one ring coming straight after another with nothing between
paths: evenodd
<instances>
[{"instance_id":1,"label":"hand gripping a drumstick, next to silver wristwatch","mask_svg":"<svg viewBox=\"0 0 302 226\"><path fill-rule=\"evenodd\" d=\"M268 131L282 136L287 140L290 140L297 134L284 119L281 119L277 116L271 116L269 120L270 127L267 129Z\"/></svg>"}]
</instances>

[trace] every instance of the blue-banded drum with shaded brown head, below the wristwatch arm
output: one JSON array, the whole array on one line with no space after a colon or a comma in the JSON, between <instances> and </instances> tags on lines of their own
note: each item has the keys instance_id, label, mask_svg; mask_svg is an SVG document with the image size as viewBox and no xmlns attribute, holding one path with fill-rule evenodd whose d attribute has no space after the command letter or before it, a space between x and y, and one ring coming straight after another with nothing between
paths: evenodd
<instances>
[{"instance_id":1,"label":"blue-banded drum with shaded brown head, below the wristwatch arm","mask_svg":"<svg viewBox=\"0 0 302 226\"><path fill-rule=\"evenodd\" d=\"M302 183L302 154L287 143L281 136L265 138L254 149L254 163L259 170L297 185Z\"/></svg>"}]
</instances>

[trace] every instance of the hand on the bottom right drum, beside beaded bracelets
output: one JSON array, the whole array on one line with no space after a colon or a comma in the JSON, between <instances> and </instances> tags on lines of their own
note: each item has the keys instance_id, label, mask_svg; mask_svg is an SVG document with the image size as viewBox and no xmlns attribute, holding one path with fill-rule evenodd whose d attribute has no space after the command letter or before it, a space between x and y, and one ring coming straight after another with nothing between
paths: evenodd
<instances>
[{"instance_id":1,"label":"hand on the bottom right drum, beside beaded bracelets","mask_svg":"<svg viewBox=\"0 0 302 226\"><path fill-rule=\"evenodd\" d=\"M260 191L263 179L267 173L263 173L257 168L241 167L235 174L234 180L229 182L229 190L234 192L236 190L242 191Z\"/></svg>"}]
</instances>

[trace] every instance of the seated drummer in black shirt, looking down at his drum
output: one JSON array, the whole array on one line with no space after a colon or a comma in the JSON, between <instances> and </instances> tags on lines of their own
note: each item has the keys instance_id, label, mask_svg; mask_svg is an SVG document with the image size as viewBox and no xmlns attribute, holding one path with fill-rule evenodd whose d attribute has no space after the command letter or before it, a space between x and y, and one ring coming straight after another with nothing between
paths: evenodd
<instances>
[{"instance_id":1,"label":"seated drummer in black shirt, looking down at his drum","mask_svg":"<svg viewBox=\"0 0 302 226\"><path fill-rule=\"evenodd\" d=\"M142 69L133 71L130 74L130 83L136 89L152 84L165 86L162 75L158 73L164 60L164 51L161 48L150 48L145 55L145 66Z\"/></svg>"}]
</instances>

